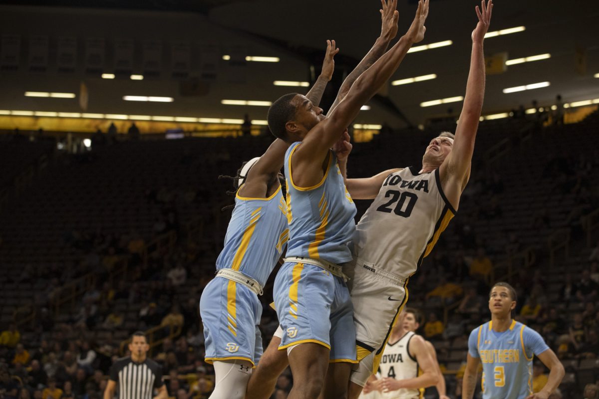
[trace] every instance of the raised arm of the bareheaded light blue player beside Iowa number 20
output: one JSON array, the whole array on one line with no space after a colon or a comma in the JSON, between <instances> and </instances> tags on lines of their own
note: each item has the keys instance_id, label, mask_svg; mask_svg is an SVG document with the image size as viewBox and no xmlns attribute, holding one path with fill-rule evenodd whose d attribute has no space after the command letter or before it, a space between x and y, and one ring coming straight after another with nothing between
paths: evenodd
<instances>
[{"instance_id":1,"label":"raised arm of the bareheaded light blue player beside Iowa number 20","mask_svg":"<svg viewBox=\"0 0 599 399\"><path fill-rule=\"evenodd\" d=\"M397 5L397 0L391 0L390 4L394 7ZM322 176L319 162L325 160L329 148L338 141L349 123L358 115L361 106L389 80L412 44L424 38L426 30L424 22L427 15L428 0L419 0L416 17L406 35L402 36L391 50L383 54L355 81L347 96L332 112L329 112L325 120L313 127L302 145L295 151L294 168L310 176L319 174Z\"/></svg>"}]
</instances>

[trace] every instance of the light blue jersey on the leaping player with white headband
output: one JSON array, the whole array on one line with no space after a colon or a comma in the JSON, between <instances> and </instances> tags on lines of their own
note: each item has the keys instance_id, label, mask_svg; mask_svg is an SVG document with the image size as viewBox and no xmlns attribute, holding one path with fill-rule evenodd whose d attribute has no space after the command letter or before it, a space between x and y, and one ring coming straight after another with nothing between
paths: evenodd
<instances>
[{"instance_id":1,"label":"light blue jersey on the leaping player with white headband","mask_svg":"<svg viewBox=\"0 0 599 399\"><path fill-rule=\"evenodd\" d=\"M237 270L264 287L289 237L286 212L280 187L265 199L237 193L216 270Z\"/></svg>"}]
</instances>

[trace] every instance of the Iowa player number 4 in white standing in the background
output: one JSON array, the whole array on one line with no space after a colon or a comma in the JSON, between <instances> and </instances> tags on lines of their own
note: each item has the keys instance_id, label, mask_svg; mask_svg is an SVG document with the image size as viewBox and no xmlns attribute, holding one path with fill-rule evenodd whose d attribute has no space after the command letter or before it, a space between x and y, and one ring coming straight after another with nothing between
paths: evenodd
<instances>
[{"instance_id":1,"label":"Iowa player number 4 in white standing in the background","mask_svg":"<svg viewBox=\"0 0 599 399\"><path fill-rule=\"evenodd\" d=\"M439 397L447 398L435 349L415 333L419 326L420 315L415 309L401 312L379 364L382 378L371 377L364 392L380 391L383 399L413 399L422 398L425 388L436 385Z\"/></svg>"}]
</instances>

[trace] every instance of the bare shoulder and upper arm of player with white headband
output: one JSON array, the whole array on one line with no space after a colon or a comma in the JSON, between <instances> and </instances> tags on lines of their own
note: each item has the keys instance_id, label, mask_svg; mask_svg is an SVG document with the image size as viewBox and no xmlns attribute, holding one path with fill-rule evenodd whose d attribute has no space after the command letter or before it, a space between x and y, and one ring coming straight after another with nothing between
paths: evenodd
<instances>
[{"instance_id":1,"label":"bare shoulder and upper arm of player with white headband","mask_svg":"<svg viewBox=\"0 0 599 399\"><path fill-rule=\"evenodd\" d=\"M280 183L277 176L285 162L285 151L288 147L289 144L282 139L273 141L256 165L252 166L247 173L246 182L241 186L239 195L249 198L265 198L274 192L273 188L278 189Z\"/></svg>"}]
</instances>

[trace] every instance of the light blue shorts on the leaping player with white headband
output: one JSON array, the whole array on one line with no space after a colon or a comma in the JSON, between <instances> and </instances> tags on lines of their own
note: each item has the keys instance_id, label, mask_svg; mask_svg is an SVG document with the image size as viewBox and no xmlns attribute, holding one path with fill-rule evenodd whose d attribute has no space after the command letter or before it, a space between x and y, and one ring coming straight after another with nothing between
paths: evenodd
<instances>
[{"instance_id":1,"label":"light blue shorts on the leaping player with white headband","mask_svg":"<svg viewBox=\"0 0 599 399\"><path fill-rule=\"evenodd\" d=\"M262 356L262 335L258 329L262 304L256 293L243 284L216 277L202 292L199 313L204 324L206 363L258 363Z\"/></svg>"}]
</instances>

